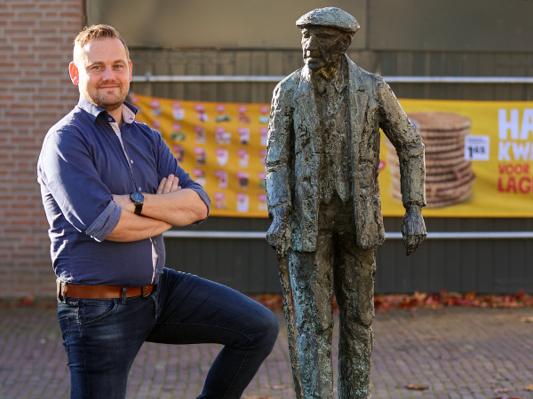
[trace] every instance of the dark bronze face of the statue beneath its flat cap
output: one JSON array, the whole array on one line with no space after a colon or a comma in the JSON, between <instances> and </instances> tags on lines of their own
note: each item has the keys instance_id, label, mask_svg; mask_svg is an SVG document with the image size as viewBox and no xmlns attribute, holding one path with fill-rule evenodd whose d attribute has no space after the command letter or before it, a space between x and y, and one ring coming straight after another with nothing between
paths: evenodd
<instances>
[{"instance_id":1,"label":"dark bronze face of the statue beneath its flat cap","mask_svg":"<svg viewBox=\"0 0 533 399\"><path fill-rule=\"evenodd\" d=\"M302 51L312 71L336 66L351 43L351 37L335 27L308 25L302 28Z\"/></svg>"}]
</instances>

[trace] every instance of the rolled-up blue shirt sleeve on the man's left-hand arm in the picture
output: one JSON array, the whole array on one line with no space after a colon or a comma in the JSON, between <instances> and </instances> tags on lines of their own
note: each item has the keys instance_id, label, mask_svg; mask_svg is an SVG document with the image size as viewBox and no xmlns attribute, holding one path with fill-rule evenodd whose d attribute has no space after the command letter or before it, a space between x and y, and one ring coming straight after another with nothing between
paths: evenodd
<instances>
[{"instance_id":1,"label":"rolled-up blue shirt sleeve on the man's left-hand arm in the picture","mask_svg":"<svg viewBox=\"0 0 533 399\"><path fill-rule=\"evenodd\" d=\"M115 229L122 209L99 178L91 151L76 127L51 131L39 157L37 174L68 223L102 241Z\"/></svg>"}]
</instances>

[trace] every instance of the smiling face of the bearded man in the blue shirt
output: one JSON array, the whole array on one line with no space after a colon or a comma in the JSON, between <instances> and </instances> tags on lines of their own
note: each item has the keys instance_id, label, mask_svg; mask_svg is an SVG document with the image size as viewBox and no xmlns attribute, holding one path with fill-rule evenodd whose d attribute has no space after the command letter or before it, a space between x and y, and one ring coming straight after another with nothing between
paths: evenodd
<instances>
[{"instance_id":1,"label":"smiling face of the bearded man in the blue shirt","mask_svg":"<svg viewBox=\"0 0 533 399\"><path fill-rule=\"evenodd\" d=\"M123 43L115 38L95 39L77 54L68 70L84 98L107 111L122 106L132 79Z\"/></svg>"}]
</instances>

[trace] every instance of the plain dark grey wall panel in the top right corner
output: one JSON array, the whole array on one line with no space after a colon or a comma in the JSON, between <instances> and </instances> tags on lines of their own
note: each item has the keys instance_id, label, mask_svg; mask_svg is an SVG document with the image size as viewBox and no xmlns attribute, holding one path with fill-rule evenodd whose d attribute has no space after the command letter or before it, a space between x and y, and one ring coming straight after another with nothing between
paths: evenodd
<instances>
[{"instance_id":1,"label":"plain dark grey wall panel in the top right corner","mask_svg":"<svg viewBox=\"0 0 533 399\"><path fill-rule=\"evenodd\" d=\"M374 51L531 51L533 3L522 0L372 0Z\"/></svg>"}]
</instances>

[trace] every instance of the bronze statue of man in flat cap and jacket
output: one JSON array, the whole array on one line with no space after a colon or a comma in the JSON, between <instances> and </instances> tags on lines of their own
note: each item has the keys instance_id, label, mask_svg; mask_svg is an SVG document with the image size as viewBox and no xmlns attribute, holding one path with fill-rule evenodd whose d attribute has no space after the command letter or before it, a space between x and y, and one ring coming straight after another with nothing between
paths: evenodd
<instances>
[{"instance_id":1,"label":"bronze statue of man in flat cap and jacket","mask_svg":"<svg viewBox=\"0 0 533 399\"><path fill-rule=\"evenodd\" d=\"M379 129L394 144L408 254L426 237L424 145L378 76L346 57L357 21L326 7L297 20L305 66L274 89L267 145L267 241L287 255L304 395L332 398L333 292L340 398L370 397L379 200Z\"/></svg>"}]
</instances>

